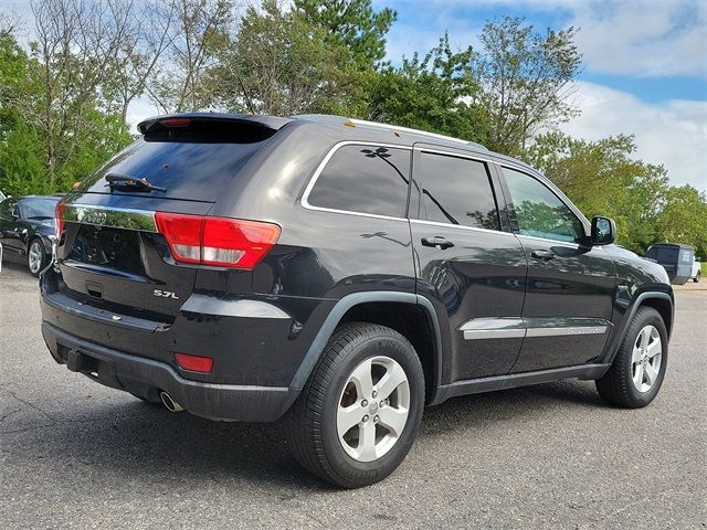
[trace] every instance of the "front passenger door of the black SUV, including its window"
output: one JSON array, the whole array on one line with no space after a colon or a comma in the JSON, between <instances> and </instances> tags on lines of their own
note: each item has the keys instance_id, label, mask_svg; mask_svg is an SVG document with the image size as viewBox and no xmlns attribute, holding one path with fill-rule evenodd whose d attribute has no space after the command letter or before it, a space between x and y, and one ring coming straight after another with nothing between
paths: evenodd
<instances>
[{"instance_id":1,"label":"front passenger door of the black SUV, including its window","mask_svg":"<svg viewBox=\"0 0 707 530\"><path fill-rule=\"evenodd\" d=\"M591 362L612 326L613 263L603 247L591 246L588 226L551 187L509 167L503 176L528 259L526 337L511 371Z\"/></svg>"}]
</instances>

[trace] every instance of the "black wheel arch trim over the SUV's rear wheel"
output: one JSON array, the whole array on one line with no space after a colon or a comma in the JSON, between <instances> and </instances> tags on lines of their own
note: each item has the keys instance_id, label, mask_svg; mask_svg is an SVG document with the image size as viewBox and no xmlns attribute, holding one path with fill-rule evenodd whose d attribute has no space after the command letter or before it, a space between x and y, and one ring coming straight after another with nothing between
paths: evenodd
<instances>
[{"instance_id":1,"label":"black wheel arch trim over the SUV's rear wheel","mask_svg":"<svg viewBox=\"0 0 707 530\"><path fill-rule=\"evenodd\" d=\"M289 386L302 390L315 369L336 328L344 322L379 324L399 331L415 348L425 374L428 401L440 386L442 336L432 303L401 292L355 293L334 306L309 346ZM430 384L431 383L431 384Z\"/></svg>"}]
</instances>

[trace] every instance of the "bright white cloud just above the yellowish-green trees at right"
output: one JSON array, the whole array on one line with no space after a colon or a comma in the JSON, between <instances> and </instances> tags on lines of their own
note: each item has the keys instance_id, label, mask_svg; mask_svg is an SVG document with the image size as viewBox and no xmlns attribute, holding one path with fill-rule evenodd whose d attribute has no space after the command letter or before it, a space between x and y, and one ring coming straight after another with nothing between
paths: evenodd
<instances>
[{"instance_id":1,"label":"bright white cloud just above the yellowish-green trees at right","mask_svg":"<svg viewBox=\"0 0 707 530\"><path fill-rule=\"evenodd\" d=\"M665 166L673 184L707 191L707 102L648 104L626 92L582 82L577 103L582 114L561 127L564 132L587 140L634 134L636 158Z\"/></svg>"}]
</instances>

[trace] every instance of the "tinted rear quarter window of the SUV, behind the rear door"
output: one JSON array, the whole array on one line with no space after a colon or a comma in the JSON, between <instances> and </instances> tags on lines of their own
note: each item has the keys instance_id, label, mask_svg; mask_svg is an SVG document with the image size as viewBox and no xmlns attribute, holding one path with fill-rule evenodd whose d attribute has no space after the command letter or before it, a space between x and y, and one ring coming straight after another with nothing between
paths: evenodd
<instances>
[{"instance_id":1,"label":"tinted rear quarter window of the SUV, behind the rear door","mask_svg":"<svg viewBox=\"0 0 707 530\"><path fill-rule=\"evenodd\" d=\"M314 206L402 218L409 179L409 150L344 146L319 174L308 202Z\"/></svg>"}]
</instances>

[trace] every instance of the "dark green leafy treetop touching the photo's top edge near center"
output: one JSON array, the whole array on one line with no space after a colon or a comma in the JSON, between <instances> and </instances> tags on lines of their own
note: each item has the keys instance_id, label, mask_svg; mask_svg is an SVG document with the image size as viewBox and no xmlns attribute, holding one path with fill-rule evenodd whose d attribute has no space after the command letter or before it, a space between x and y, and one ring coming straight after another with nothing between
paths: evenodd
<instances>
[{"instance_id":1,"label":"dark green leafy treetop touching the photo's top edge near center","mask_svg":"<svg viewBox=\"0 0 707 530\"><path fill-rule=\"evenodd\" d=\"M386 56L386 34L398 17L390 8L373 11L371 0L295 0L295 10L371 67Z\"/></svg>"}]
</instances>

